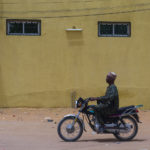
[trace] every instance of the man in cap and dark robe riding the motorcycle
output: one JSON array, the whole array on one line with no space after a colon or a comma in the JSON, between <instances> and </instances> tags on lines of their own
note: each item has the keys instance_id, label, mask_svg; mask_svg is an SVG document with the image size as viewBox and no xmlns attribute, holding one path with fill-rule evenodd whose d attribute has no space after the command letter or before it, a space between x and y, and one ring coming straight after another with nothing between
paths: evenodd
<instances>
[{"instance_id":1,"label":"man in cap and dark robe riding the motorcycle","mask_svg":"<svg viewBox=\"0 0 150 150\"><path fill-rule=\"evenodd\" d=\"M104 122L101 115L107 115L115 113L119 108L119 96L117 87L114 85L114 81L117 75L114 72L109 72L106 77L106 82L109 84L105 96L101 97L90 97L90 101L97 100L97 106L95 106L95 117L96 123L95 128L99 130L100 124L101 127L104 127ZM100 124L99 124L100 123Z\"/></svg>"}]
</instances>

